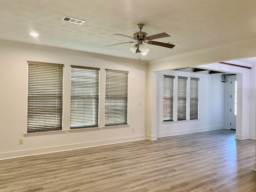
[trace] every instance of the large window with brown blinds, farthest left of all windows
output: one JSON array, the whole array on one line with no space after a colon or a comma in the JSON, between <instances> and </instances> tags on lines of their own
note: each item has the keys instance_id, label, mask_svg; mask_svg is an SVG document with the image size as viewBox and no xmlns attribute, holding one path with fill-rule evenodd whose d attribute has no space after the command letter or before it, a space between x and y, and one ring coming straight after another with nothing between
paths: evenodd
<instances>
[{"instance_id":1,"label":"large window with brown blinds, farthest left of all windows","mask_svg":"<svg viewBox=\"0 0 256 192\"><path fill-rule=\"evenodd\" d=\"M28 133L62 130L63 67L28 61Z\"/></svg>"}]
</instances>

